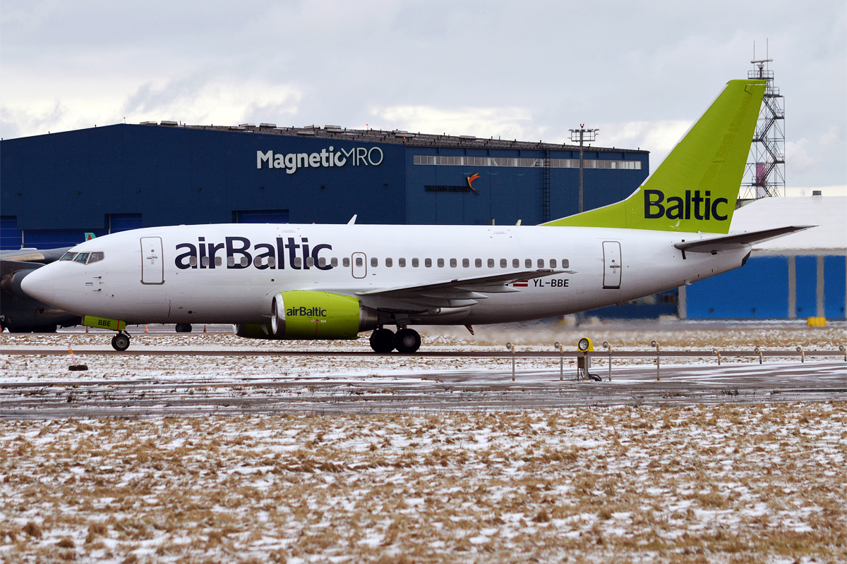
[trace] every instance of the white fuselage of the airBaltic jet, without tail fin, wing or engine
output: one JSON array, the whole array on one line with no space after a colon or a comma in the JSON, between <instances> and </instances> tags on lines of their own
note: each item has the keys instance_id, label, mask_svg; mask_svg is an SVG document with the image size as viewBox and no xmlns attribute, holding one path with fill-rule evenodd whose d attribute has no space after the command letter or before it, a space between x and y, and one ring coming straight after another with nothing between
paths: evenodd
<instances>
[{"instance_id":1,"label":"white fuselage of the airBaltic jet, without tail fin, wing or engine","mask_svg":"<svg viewBox=\"0 0 847 564\"><path fill-rule=\"evenodd\" d=\"M409 316L412 324L502 323L662 292L737 268L749 253L745 248L684 257L673 246L698 238L603 227L150 227L79 244L73 252L102 252L102 260L54 262L26 277L24 288L77 315L128 323L249 324L267 323L274 295L289 290L359 294L368 307L400 310L407 306L396 299L361 294L539 268L556 272L518 282L518 291L482 292L469 306L424 307Z\"/></svg>"}]
</instances>

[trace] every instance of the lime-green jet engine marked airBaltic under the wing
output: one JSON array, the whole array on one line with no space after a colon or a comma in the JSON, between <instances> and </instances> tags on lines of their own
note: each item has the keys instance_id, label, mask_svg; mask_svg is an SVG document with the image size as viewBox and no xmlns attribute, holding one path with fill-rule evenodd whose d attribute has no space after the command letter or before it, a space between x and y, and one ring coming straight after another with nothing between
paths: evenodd
<instances>
[{"instance_id":1,"label":"lime-green jet engine marked airBaltic under the wing","mask_svg":"<svg viewBox=\"0 0 847 564\"><path fill-rule=\"evenodd\" d=\"M374 309L337 293L293 290L274 296L270 323L238 325L235 334L252 339L355 339L377 326Z\"/></svg>"}]
</instances>

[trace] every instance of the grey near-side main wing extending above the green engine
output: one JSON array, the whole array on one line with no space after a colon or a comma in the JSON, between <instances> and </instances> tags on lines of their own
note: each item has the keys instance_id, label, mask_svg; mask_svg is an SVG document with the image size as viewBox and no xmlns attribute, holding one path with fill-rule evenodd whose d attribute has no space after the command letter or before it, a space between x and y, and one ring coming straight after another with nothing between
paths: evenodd
<instances>
[{"instance_id":1,"label":"grey near-side main wing extending above the green engine","mask_svg":"<svg viewBox=\"0 0 847 564\"><path fill-rule=\"evenodd\" d=\"M516 287L507 286L512 282L532 278L549 277L556 274L573 274L575 271L556 269L538 269L534 271L512 271L484 277L454 278L444 282L418 284L357 292L363 298L389 299L392 302L424 307L465 307L476 304L479 299L488 298L487 293L520 292Z\"/></svg>"}]
</instances>

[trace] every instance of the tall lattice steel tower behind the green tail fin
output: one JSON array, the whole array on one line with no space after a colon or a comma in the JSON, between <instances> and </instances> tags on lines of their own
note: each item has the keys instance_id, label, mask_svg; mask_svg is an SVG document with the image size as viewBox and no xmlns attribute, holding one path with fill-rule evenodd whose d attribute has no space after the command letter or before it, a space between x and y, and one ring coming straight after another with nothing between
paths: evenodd
<instances>
[{"instance_id":1,"label":"tall lattice steel tower behind the green tail fin","mask_svg":"<svg viewBox=\"0 0 847 564\"><path fill-rule=\"evenodd\" d=\"M785 105L779 89L773 85L773 71L766 68L772 61L770 58L750 61L754 70L747 73L748 79L767 80L767 86L750 145L740 200L785 195Z\"/></svg>"}]
</instances>

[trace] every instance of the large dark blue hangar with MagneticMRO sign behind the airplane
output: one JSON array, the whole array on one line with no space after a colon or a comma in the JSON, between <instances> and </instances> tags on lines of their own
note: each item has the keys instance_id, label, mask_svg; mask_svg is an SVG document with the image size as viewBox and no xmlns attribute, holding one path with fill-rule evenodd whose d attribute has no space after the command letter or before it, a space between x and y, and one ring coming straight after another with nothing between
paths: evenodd
<instances>
[{"instance_id":1,"label":"large dark blue hangar with MagneticMRO sign behind the airplane","mask_svg":"<svg viewBox=\"0 0 847 564\"><path fill-rule=\"evenodd\" d=\"M586 147L586 210L649 153ZM578 211L579 147L335 126L117 124L2 141L0 246L220 222L531 225Z\"/></svg>"}]
</instances>

